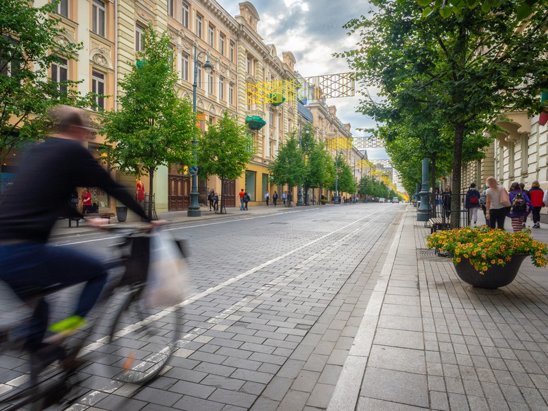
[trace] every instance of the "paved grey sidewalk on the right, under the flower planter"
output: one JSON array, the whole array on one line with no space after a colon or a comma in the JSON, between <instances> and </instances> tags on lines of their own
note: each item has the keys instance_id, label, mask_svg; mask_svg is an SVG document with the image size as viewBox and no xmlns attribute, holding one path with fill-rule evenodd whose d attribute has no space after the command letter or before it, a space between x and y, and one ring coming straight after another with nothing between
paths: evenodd
<instances>
[{"instance_id":1,"label":"paved grey sidewalk on the right, under the flower planter","mask_svg":"<svg viewBox=\"0 0 548 411\"><path fill-rule=\"evenodd\" d=\"M408 207L327 409L547 410L546 269L473 289L427 234Z\"/></svg>"}]
</instances>

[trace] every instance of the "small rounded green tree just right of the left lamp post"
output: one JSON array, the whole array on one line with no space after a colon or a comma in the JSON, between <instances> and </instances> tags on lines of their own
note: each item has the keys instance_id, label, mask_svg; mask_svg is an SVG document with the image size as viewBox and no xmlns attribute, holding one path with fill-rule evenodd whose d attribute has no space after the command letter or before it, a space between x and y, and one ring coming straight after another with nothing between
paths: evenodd
<instances>
[{"instance_id":1,"label":"small rounded green tree just right of the left lamp post","mask_svg":"<svg viewBox=\"0 0 548 411\"><path fill-rule=\"evenodd\" d=\"M236 179L245 171L245 166L253 160L255 152L253 136L246 133L245 125L227 111L215 125L198 140L198 164L202 176L216 175L221 179L221 214L226 213L225 182Z\"/></svg>"}]
</instances>

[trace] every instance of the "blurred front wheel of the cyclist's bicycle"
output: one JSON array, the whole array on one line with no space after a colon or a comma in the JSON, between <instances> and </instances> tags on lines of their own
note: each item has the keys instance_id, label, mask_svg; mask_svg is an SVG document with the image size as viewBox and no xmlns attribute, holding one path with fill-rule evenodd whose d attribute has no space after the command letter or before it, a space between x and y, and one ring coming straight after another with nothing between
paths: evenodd
<instances>
[{"instance_id":1,"label":"blurred front wheel of the cyclist's bicycle","mask_svg":"<svg viewBox=\"0 0 548 411\"><path fill-rule=\"evenodd\" d=\"M145 308L143 289L136 286L122 299L102 350L112 361L112 378L132 384L146 384L160 374L182 333L182 308Z\"/></svg>"}]
</instances>

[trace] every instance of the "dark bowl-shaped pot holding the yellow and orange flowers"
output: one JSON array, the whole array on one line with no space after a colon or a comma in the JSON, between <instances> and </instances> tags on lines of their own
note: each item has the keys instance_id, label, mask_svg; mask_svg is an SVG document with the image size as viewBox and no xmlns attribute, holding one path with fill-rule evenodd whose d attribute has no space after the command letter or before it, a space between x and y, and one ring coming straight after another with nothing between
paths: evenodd
<instances>
[{"instance_id":1,"label":"dark bowl-shaped pot holding the yellow and orange flowers","mask_svg":"<svg viewBox=\"0 0 548 411\"><path fill-rule=\"evenodd\" d=\"M455 264L455 269L462 281L479 288L499 288L508 286L519 271L521 262L527 254L514 254L512 260L507 261L505 266L493 265L487 271L480 273L475 271L467 258L462 258Z\"/></svg>"}]
</instances>

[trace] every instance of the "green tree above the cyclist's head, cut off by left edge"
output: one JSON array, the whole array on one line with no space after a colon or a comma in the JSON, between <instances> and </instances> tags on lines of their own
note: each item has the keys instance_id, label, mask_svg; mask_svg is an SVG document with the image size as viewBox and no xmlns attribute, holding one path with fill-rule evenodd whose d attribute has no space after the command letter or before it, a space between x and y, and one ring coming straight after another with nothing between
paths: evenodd
<instances>
[{"instance_id":1,"label":"green tree above the cyclist's head, cut off by left edge","mask_svg":"<svg viewBox=\"0 0 548 411\"><path fill-rule=\"evenodd\" d=\"M0 0L0 164L13 149L45 136L53 106L92 105L91 94L77 92L79 82L48 77L51 64L75 60L82 44L60 41L64 29L48 17L54 3L32 3Z\"/></svg>"}]
</instances>

